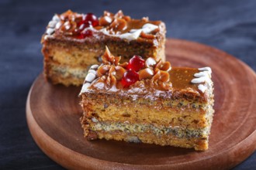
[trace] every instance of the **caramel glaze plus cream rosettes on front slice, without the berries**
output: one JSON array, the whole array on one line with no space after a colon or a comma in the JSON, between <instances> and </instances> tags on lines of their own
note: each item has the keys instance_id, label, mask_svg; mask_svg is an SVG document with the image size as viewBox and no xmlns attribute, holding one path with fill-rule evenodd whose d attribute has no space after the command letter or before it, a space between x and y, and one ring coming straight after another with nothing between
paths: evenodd
<instances>
[{"instance_id":1,"label":"caramel glaze plus cream rosettes on front slice, without the berries","mask_svg":"<svg viewBox=\"0 0 256 170\"><path fill-rule=\"evenodd\" d=\"M126 87L122 82L123 75L129 70L128 63L119 63L121 56L113 56L108 47L102 55L102 65L85 77L85 88L81 93L111 93L123 97L149 98L150 100L186 99L207 102L209 96L202 93L196 84L191 83L198 69L176 67L171 68L171 63L156 61L149 57L144 66L138 70L139 80ZM89 70L89 72L90 72ZM96 72L96 73L95 73ZM94 73L94 74L93 74ZM210 85L209 85L210 86Z\"/></svg>"}]
</instances>

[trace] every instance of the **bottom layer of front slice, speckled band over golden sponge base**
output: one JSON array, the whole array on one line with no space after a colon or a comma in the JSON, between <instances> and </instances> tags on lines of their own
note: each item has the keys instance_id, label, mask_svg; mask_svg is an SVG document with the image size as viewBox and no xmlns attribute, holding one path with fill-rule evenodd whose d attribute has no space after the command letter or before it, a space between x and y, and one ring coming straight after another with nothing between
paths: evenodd
<instances>
[{"instance_id":1,"label":"bottom layer of front slice, speckled band over golden sponge base","mask_svg":"<svg viewBox=\"0 0 256 170\"><path fill-rule=\"evenodd\" d=\"M85 131L89 140L97 138L117 141L143 142L155 145L171 145L182 148L195 148L205 151L208 148L209 129L188 129L179 127L154 126L153 124L129 124L119 122L99 122L90 124Z\"/></svg>"}]
</instances>

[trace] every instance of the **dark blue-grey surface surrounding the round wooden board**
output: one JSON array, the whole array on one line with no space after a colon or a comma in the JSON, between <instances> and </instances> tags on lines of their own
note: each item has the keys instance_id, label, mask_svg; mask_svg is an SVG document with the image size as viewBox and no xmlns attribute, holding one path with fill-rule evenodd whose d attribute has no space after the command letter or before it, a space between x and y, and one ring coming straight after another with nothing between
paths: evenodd
<instances>
[{"instance_id":1,"label":"dark blue-grey surface surrounding the round wooden board","mask_svg":"<svg viewBox=\"0 0 256 170\"><path fill-rule=\"evenodd\" d=\"M222 49L256 70L256 1L0 1L0 169L62 169L26 124L29 87L43 70L40 38L54 13L104 10L161 19L167 36ZM223 68L224 69L224 68ZM239 69L239 68L237 68ZM256 153L234 169L256 169Z\"/></svg>"}]
</instances>

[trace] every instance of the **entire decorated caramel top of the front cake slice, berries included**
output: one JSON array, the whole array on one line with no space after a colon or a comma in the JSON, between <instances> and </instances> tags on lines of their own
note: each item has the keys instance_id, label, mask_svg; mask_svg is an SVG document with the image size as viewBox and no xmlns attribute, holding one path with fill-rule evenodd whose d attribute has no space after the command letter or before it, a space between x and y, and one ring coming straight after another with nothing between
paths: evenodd
<instances>
[{"instance_id":1,"label":"entire decorated caramel top of the front cake slice, berries included","mask_svg":"<svg viewBox=\"0 0 256 170\"><path fill-rule=\"evenodd\" d=\"M139 96L196 99L207 101L212 93L211 69L171 68L171 63L133 56L119 63L106 47L102 64L91 66L81 93L119 93L135 99Z\"/></svg>"}]
</instances>

